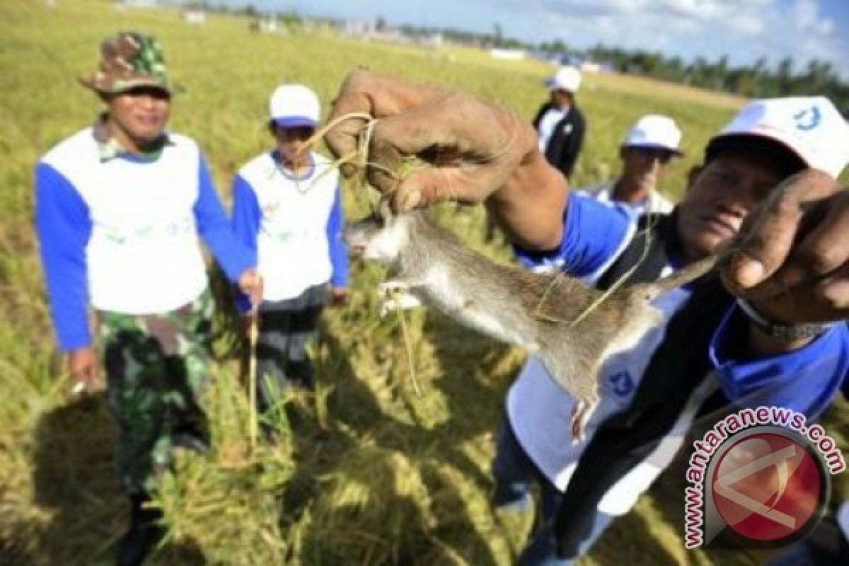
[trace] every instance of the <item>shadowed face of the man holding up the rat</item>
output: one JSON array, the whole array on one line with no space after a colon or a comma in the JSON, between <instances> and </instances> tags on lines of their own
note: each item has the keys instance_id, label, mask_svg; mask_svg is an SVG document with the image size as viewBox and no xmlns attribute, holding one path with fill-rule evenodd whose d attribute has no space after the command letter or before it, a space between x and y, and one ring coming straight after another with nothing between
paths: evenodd
<instances>
[{"instance_id":1,"label":"shadowed face of the man holding up the rat","mask_svg":"<svg viewBox=\"0 0 849 566\"><path fill-rule=\"evenodd\" d=\"M745 216L784 180L756 154L719 154L693 175L678 213L678 234L689 259L710 254L739 231Z\"/></svg>"}]
</instances>

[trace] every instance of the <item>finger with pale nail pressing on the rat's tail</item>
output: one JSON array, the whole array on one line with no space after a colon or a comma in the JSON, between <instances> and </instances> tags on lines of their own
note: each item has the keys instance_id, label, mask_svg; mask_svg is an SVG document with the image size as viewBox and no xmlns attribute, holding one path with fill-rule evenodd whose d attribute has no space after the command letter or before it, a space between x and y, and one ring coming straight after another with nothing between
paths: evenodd
<instances>
[{"instance_id":1,"label":"finger with pale nail pressing on the rat's tail","mask_svg":"<svg viewBox=\"0 0 849 566\"><path fill-rule=\"evenodd\" d=\"M723 277L731 289L744 292L762 283L784 263L801 221L803 205L835 190L826 173L807 170L782 183L746 222L734 251L724 262Z\"/></svg>"}]
</instances>

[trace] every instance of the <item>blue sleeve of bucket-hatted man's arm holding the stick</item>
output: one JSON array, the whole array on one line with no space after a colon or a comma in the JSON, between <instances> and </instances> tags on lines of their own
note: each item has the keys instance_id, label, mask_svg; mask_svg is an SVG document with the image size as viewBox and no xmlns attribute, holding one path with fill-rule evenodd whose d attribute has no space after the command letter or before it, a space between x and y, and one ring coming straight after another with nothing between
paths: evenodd
<instances>
[{"instance_id":1,"label":"blue sleeve of bucket-hatted man's arm holding the stick","mask_svg":"<svg viewBox=\"0 0 849 566\"><path fill-rule=\"evenodd\" d=\"M209 167L202 155L198 176L199 195L194 203L194 220L198 225L198 233L209 246L228 279L235 281L246 269L256 266L256 251L251 251L233 234L233 228L215 192Z\"/></svg>"}]
</instances>

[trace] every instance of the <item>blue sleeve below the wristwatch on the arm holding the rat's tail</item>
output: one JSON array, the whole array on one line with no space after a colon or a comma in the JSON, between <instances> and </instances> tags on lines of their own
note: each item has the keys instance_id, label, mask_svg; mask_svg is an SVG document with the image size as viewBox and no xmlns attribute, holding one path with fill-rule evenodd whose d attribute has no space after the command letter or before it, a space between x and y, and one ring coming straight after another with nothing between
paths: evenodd
<instances>
[{"instance_id":1,"label":"blue sleeve below the wristwatch on the arm holding the rat's tail","mask_svg":"<svg viewBox=\"0 0 849 566\"><path fill-rule=\"evenodd\" d=\"M779 356L738 360L734 347L748 324L731 307L711 340L722 392L741 406L780 406L816 418L849 375L849 327L839 322L810 344Z\"/></svg>"}]
</instances>

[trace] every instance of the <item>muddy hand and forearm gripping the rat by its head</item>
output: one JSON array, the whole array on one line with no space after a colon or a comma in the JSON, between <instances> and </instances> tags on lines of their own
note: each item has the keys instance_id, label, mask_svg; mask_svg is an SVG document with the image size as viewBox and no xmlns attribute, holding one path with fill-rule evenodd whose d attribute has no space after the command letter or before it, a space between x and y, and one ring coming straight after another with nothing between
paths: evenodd
<instances>
[{"instance_id":1,"label":"muddy hand and forearm gripping the rat by its head","mask_svg":"<svg viewBox=\"0 0 849 566\"><path fill-rule=\"evenodd\" d=\"M343 120L348 115L359 117ZM365 161L368 182L393 210L486 202L515 244L559 245L568 186L540 153L536 132L513 112L464 92L356 70L329 121L336 124L325 135L329 149L359 160L343 165L343 174L360 171Z\"/></svg>"}]
</instances>

